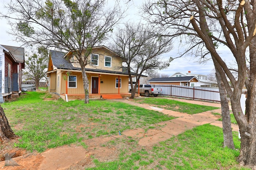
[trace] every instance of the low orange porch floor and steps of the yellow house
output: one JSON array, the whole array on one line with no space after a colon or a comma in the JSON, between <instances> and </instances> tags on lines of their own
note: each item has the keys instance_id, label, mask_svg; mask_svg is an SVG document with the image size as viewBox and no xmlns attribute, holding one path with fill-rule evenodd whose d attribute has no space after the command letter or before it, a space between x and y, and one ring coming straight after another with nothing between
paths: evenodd
<instances>
[{"instance_id":1,"label":"low orange porch floor and steps of the yellow house","mask_svg":"<svg viewBox=\"0 0 256 170\"><path fill-rule=\"evenodd\" d=\"M139 94L135 94L138 97ZM66 100L65 94L60 94L63 100ZM120 93L120 94L89 94L89 99L122 99L130 98L131 93ZM68 100L82 100L84 99L84 94L68 94Z\"/></svg>"}]
</instances>

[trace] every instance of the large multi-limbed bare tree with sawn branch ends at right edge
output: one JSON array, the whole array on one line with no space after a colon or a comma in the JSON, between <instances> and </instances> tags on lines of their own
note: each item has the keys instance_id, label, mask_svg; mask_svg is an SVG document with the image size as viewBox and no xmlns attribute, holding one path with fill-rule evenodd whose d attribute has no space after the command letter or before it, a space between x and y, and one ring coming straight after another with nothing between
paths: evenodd
<instances>
[{"instance_id":1,"label":"large multi-limbed bare tree with sawn branch ends at right edge","mask_svg":"<svg viewBox=\"0 0 256 170\"><path fill-rule=\"evenodd\" d=\"M197 54L202 59L210 55L220 76L220 79L217 79L218 83L221 80L230 96L232 111L240 129L241 150L238 161L246 166L255 167L256 1L159 0L157 3L144 4L143 10L148 14L145 18L152 24L165 29L167 36L186 37L188 46L184 53ZM224 62L224 55L218 51L220 45L224 45L232 53L238 66L237 78ZM246 51L249 53L249 68L246 67ZM228 80L234 90L231 89ZM248 90L245 115L241 114L240 105L244 84ZM222 105L227 104L222 102ZM227 113L228 111L222 112L222 115ZM224 126L228 123L223 120ZM226 132L223 131L223 133ZM224 137L226 137L225 134ZM231 137L227 141L233 142ZM224 143L224 146L229 144Z\"/></svg>"}]
</instances>

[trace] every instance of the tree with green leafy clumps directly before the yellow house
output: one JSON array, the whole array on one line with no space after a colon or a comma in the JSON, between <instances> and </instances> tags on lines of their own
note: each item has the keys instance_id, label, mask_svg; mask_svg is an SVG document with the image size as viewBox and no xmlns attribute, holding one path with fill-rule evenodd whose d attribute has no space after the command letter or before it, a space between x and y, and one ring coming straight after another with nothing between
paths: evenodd
<instances>
[{"instance_id":1,"label":"tree with green leafy clumps directly before the yellow house","mask_svg":"<svg viewBox=\"0 0 256 170\"><path fill-rule=\"evenodd\" d=\"M92 47L99 45L120 21L119 4L106 7L107 0L16 0L2 14L12 25L12 35L26 44L40 44L71 51L82 70L85 103L89 103L89 81L85 67Z\"/></svg>"}]
</instances>

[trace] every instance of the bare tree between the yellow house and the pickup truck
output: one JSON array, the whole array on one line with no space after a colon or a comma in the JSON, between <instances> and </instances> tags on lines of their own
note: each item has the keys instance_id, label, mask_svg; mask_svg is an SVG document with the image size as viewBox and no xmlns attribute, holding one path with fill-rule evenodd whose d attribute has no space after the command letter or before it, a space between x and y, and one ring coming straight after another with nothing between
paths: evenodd
<instances>
[{"instance_id":1,"label":"bare tree between the yellow house and the pickup truck","mask_svg":"<svg viewBox=\"0 0 256 170\"><path fill-rule=\"evenodd\" d=\"M133 84L132 74L136 77L135 88L131 86L131 98L134 98L136 86L143 73L153 73L169 65L172 58L162 61L161 55L172 49L172 43L169 38L156 35L154 29L141 23L126 23L124 27L118 29L112 49L124 61L130 84Z\"/></svg>"}]
</instances>

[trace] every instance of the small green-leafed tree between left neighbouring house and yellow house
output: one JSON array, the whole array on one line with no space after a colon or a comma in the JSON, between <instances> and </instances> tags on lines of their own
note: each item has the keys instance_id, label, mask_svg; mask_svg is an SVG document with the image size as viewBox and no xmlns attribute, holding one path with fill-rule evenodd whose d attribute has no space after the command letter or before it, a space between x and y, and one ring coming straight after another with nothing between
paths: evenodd
<instances>
[{"instance_id":1,"label":"small green-leafed tree between left neighbouring house and yellow house","mask_svg":"<svg viewBox=\"0 0 256 170\"><path fill-rule=\"evenodd\" d=\"M36 89L39 87L40 80L45 76L48 61L48 51L44 47L38 47L38 53L32 54L25 61L23 76L26 80L34 80Z\"/></svg>"}]
</instances>

